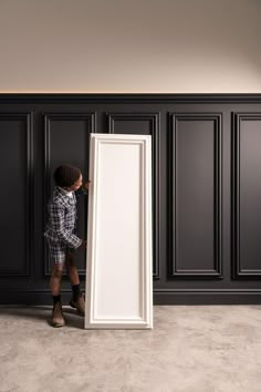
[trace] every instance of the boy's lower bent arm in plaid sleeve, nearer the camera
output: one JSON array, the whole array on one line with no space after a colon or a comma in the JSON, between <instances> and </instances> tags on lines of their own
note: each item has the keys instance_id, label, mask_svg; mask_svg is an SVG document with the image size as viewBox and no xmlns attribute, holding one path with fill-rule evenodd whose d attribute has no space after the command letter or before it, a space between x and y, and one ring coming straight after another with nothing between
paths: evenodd
<instances>
[{"instance_id":1,"label":"boy's lower bent arm in plaid sleeve, nearer the camera","mask_svg":"<svg viewBox=\"0 0 261 392\"><path fill-rule=\"evenodd\" d=\"M65 228L63 206L58 203L52 204L50 206L50 219L52 223L52 230L60 239L73 248L79 248L82 245L82 239Z\"/></svg>"}]
</instances>

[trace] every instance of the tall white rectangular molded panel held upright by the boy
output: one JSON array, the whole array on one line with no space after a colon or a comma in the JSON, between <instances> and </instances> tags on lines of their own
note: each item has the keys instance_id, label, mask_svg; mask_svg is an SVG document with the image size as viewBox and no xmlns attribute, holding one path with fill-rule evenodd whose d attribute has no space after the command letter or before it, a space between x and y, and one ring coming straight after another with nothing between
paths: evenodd
<instances>
[{"instance_id":1,"label":"tall white rectangular molded panel held upright by the boy","mask_svg":"<svg viewBox=\"0 0 261 392\"><path fill-rule=\"evenodd\" d=\"M152 136L90 138L85 328L152 329Z\"/></svg>"}]
</instances>

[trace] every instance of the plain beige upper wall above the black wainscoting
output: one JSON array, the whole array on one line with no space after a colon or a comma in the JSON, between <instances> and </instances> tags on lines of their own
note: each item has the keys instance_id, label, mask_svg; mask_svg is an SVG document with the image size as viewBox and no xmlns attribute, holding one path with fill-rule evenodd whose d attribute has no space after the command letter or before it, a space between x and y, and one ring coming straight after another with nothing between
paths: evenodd
<instances>
[{"instance_id":1,"label":"plain beige upper wall above the black wainscoting","mask_svg":"<svg viewBox=\"0 0 261 392\"><path fill-rule=\"evenodd\" d=\"M0 0L0 92L261 93L261 0Z\"/></svg>"}]
</instances>

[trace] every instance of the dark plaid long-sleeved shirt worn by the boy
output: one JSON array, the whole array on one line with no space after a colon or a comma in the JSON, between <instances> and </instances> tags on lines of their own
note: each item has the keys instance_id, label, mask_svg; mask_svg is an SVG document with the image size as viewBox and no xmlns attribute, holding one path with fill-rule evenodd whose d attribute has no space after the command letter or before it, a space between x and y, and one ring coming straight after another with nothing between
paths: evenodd
<instances>
[{"instance_id":1,"label":"dark plaid long-sleeved shirt worn by the boy","mask_svg":"<svg viewBox=\"0 0 261 392\"><path fill-rule=\"evenodd\" d=\"M76 197L63 194L55 187L49 203L49 221L44 236L53 243L65 243L69 247L77 248L82 240L73 234L76 224Z\"/></svg>"}]
</instances>

